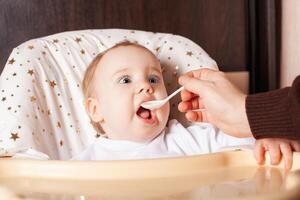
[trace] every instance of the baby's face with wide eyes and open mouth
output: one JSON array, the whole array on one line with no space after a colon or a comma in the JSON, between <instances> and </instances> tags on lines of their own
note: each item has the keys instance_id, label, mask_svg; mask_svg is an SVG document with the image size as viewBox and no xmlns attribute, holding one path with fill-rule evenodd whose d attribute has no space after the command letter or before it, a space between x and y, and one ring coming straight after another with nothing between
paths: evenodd
<instances>
[{"instance_id":1,"label":"baby's face with wide eyes and open mouth","mask_svg":"<svg viewBox=\"0 0 300 200\"><path fill-rule=\"evenodd\" d=\"M145 101L167 96L154 55L141 47L116 47L102 57L94 77L99 122L108 138L147 141L160 134L169 103L153 111L141 107Z\"/></svg>"}]
</instances>

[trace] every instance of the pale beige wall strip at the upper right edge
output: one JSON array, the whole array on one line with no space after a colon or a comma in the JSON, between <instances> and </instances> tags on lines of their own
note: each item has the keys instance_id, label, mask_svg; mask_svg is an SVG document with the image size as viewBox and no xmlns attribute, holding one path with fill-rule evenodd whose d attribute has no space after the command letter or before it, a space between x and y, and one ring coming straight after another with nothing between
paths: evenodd
<instances>
[{"instance_id":1,"label":"pale beige wall strip at the upper right edge","mask_svg":"<svg viewBox=\"0 0 300 200\"><path fill-rule=\"evenodd\" d=\"M300 74L300 0L282 1L280 86L291 85Z\"/></svg>"}]
</instances>

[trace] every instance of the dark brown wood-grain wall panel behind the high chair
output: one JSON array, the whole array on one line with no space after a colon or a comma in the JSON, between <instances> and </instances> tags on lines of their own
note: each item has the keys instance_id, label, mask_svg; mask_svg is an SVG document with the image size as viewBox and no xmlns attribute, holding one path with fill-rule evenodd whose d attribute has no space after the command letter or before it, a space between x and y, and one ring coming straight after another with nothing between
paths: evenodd
<instances>
[{"instance_id":1,"label":"dark brown wood-grain wall panel behind the high chair","mask_svg":"<svg viewBox=\"0 0 300 200\"><path fill-rule=\"evenodd\" d=\"M0 71L20 43L67 30L169 32L201 45L224 71L247 68L247 0L0 0Z\"/></svg>"}]
</instances>

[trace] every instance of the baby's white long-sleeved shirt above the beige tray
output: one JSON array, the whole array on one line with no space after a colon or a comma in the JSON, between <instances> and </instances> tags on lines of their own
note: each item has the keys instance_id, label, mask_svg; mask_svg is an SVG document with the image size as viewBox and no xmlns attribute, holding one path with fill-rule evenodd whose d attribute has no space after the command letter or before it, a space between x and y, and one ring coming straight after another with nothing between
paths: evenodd
<instances>
[{"instance_id":1,"label":"baby's white long-sleeved shirt above the beige tray","mask_svg":"<svg viewBox=\"0 0 300 200\"><path fill-rule=\"evenodd\" d=\"M170 120L168 127L149 142L98 138L73 160L127 160L207 154L224 148L252 147L254 138L235 138L208 123L183 127Z\"/></svg>"}]
</instances>

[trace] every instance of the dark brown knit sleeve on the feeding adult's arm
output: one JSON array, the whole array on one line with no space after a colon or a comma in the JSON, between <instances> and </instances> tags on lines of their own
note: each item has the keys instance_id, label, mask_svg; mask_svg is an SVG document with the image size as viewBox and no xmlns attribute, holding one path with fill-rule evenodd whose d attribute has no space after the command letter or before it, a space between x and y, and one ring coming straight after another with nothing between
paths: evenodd
<instances>
[{"instance_id":1,"label":"dark brown knit sleeve on the feeding adult's arm","mask_svg":"<svg viewBox=\"0 0 300 200\"><path fill-rule=\"evenodd\" d=\"M300 140L300 76L292 87L247 96L246 112L256 139Z\"/></svg>"}]
</instances>

